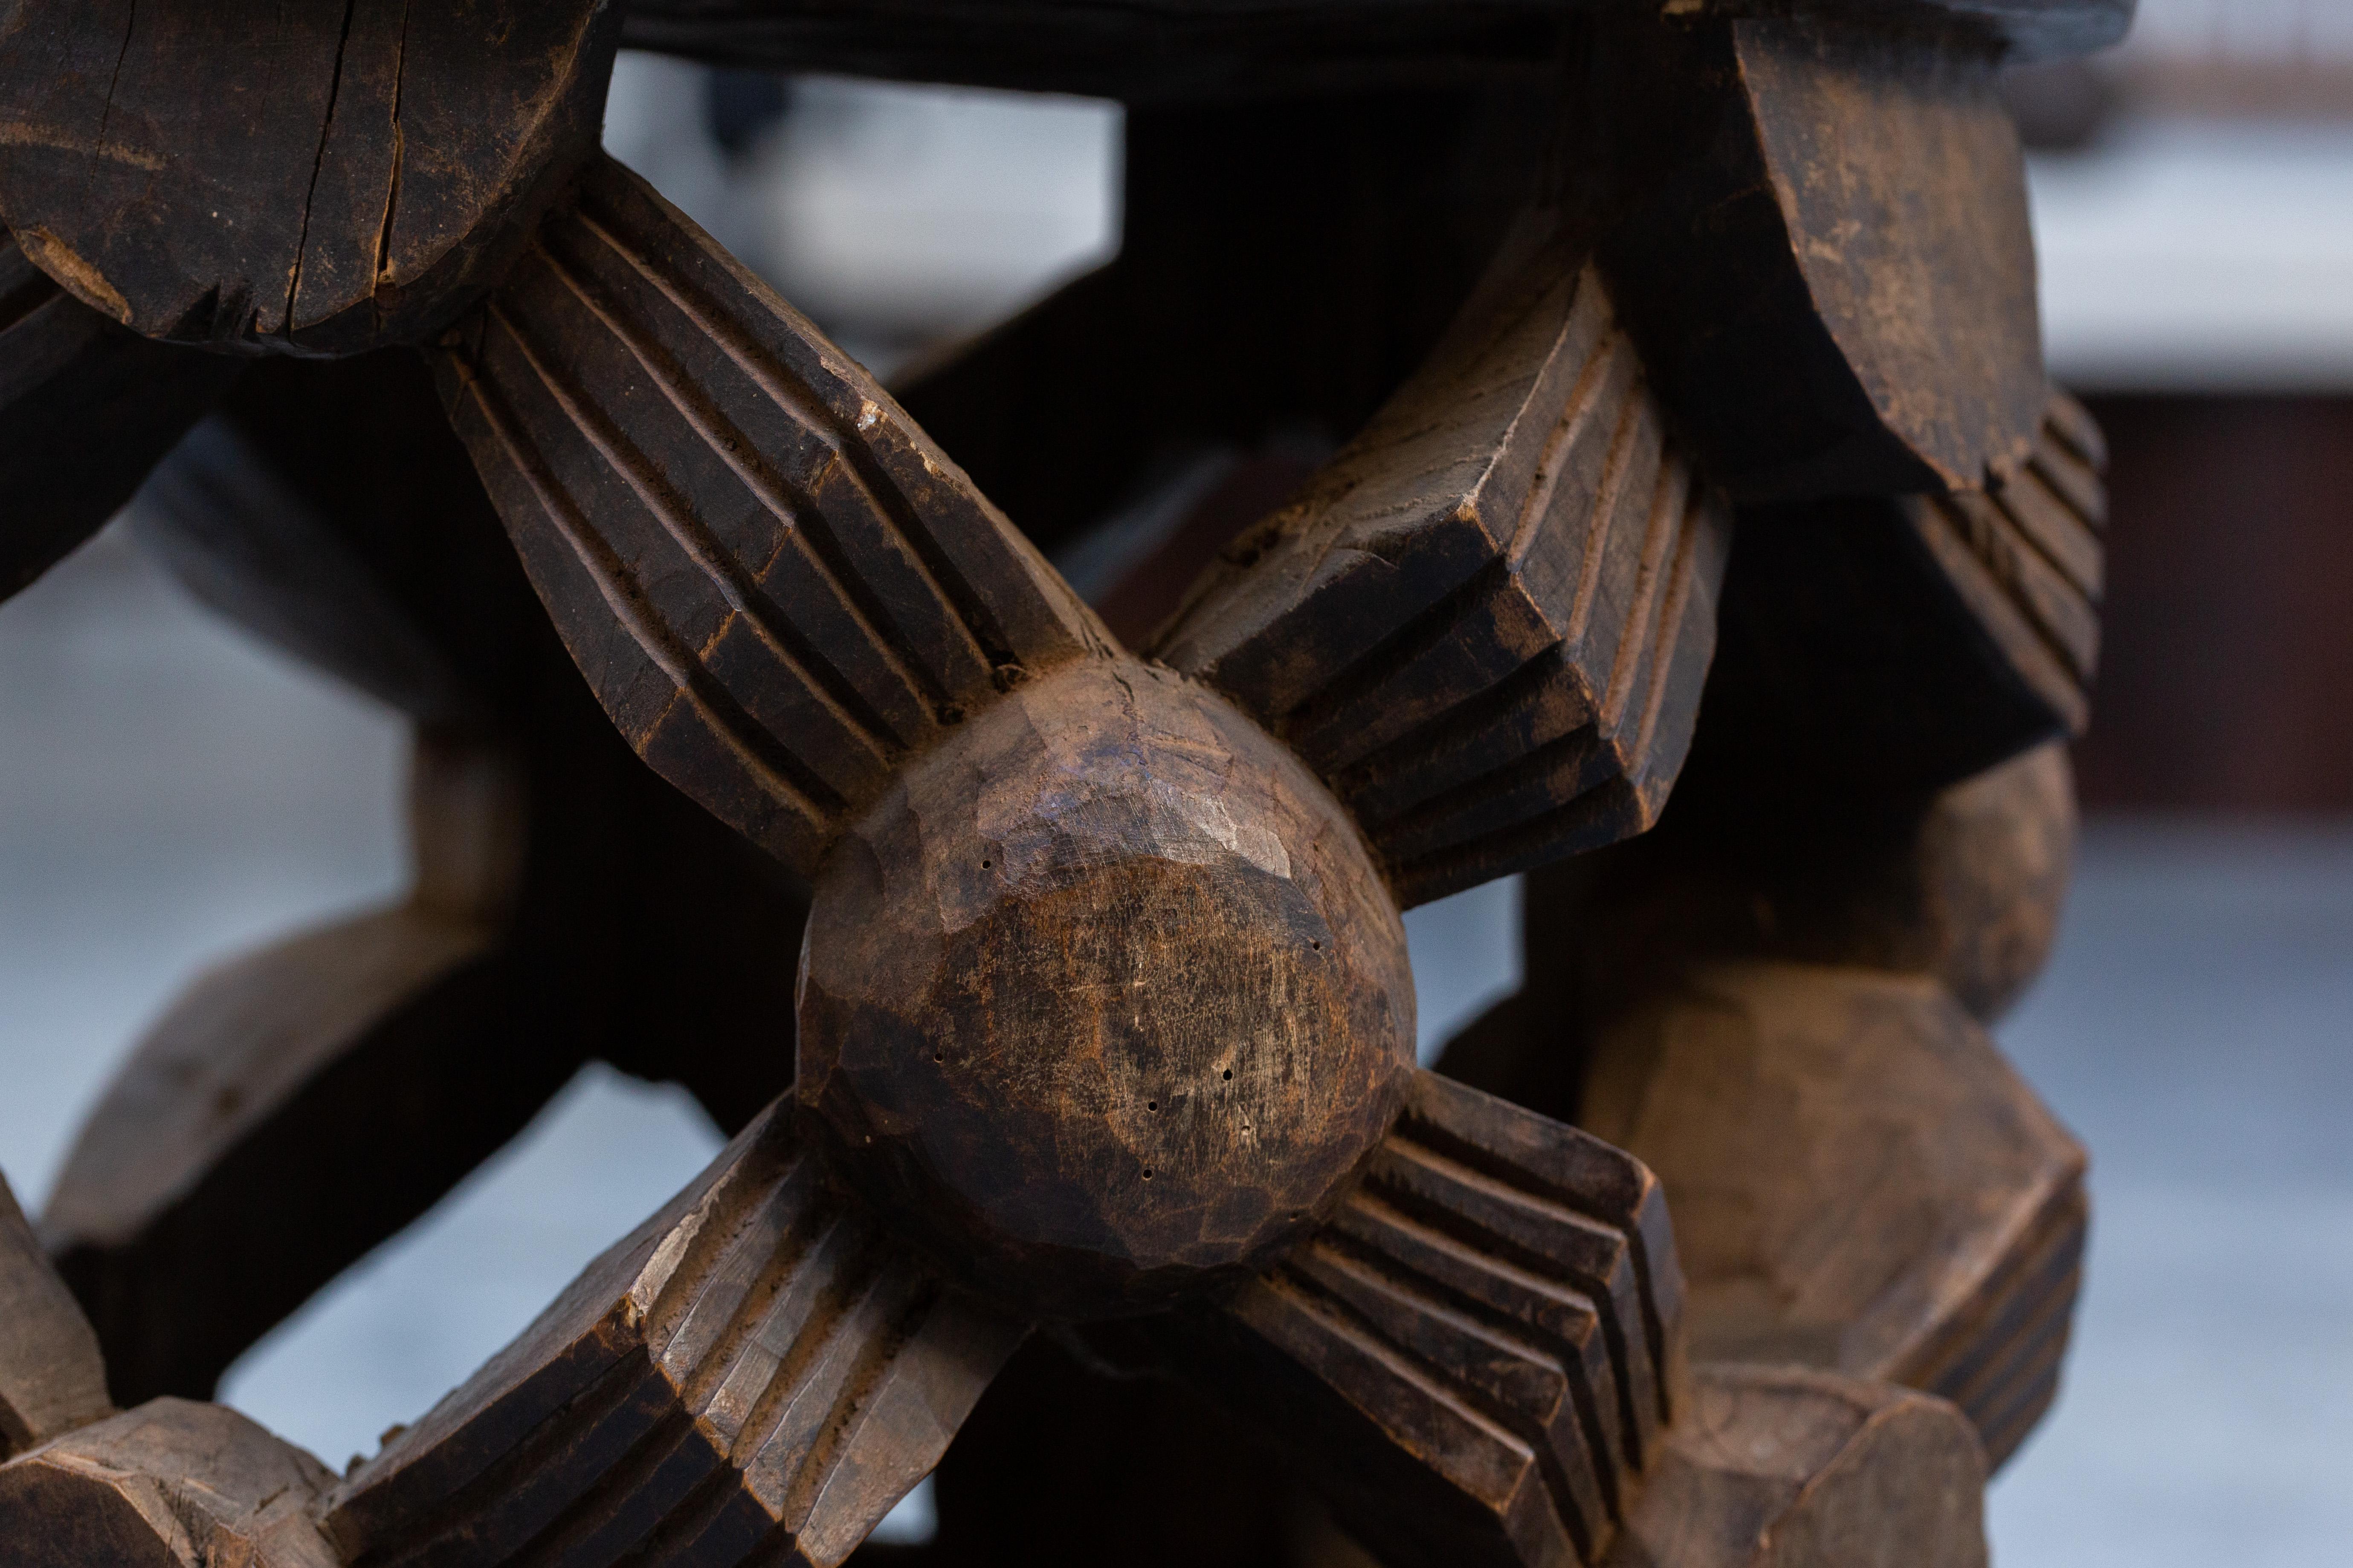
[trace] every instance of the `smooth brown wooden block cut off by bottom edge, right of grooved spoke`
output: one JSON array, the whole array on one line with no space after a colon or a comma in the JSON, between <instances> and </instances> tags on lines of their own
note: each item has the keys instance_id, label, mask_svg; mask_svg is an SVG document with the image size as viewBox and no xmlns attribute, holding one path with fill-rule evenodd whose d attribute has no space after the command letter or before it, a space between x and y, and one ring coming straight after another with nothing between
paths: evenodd
<instances>
[{"instance_id":1,"label":"smooth brown wooden block cut off by bottom edge, right of grooved spoke","mask_svg":"<svg viewBox=\"0 0 2353 1568\"><path fill-rule=\"evenodd\" d=\"M1984 1568L1986 1460L1944 1403L1701 1366L1609 1568Z\"/></svg>"}]
</instances>

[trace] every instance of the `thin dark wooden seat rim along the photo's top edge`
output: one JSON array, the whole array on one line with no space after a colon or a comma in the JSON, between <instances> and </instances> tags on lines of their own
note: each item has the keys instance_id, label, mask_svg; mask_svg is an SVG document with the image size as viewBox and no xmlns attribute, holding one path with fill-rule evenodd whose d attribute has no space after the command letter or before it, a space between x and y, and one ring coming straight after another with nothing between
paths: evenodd
<instances>
[{"instance_id":1,"label":"thin dark wooden seat rim along the photo's top edge","mask_svg":"<svg viewBox=\"0 0 2353 1568\"><path fill-rule=\"evenodd\" d=\"M1365 80L1447 80L1541 71L1579 16L1631 0L1367 5L1322 0L635 0L626 40L732 66L845 71L922 82L1092 92L1122 99L1214 96ZM1694 14L1772 9L1711 0ZM1814 16L1857 26L1946 24L2026 59L2099 49L2125 35L2132 0L1824 0Z\"/></svg>"}]
</instances>

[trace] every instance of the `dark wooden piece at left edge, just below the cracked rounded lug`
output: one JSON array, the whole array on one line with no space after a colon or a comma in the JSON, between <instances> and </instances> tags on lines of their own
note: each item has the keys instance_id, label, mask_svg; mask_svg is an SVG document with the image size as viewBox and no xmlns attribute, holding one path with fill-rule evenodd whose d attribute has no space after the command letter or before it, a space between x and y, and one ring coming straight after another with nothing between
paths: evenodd
<instances>
[{"instance_id":1,"label":"dark wooden piece at left edge, just below the cracked rounded lug","mask_svg":"<svg viewBox=\"0 0 2353 1568\"><path fill-rule=\"evenodd\" d=\"M235 374L115 327L0 233L0 599L96 534Z\"/></svg>"}]
</instances>

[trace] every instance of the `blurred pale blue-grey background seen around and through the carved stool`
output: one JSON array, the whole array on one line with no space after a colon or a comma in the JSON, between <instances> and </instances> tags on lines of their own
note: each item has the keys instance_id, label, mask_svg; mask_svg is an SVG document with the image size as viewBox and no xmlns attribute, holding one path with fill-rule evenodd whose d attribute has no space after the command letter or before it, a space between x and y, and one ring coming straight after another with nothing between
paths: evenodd
<instances>
[{"instance_id":1,"label":"blurred pale blue-grey background seen around and through the carved stool","mask_svg":"<svg viewBox=\"0 0 2353 1568\"><path fill-rule=\"evenodd\" d=\"M2005 1568L2353 1540L2353 5L2141 0L2012 80L2057 376L2113 447L2087 832L2002 1025L2092 1147L2061 1403ZM624 56L612 150L880 374L1118 244L1120 110ZM122 524L0 607L0 1168L26 1208L195 973L391 900L405 726L198 609ZM1412 919L1424 1044L1515 985L1515 889ZM779 954L788 961L788 954ZM461 1380L718 1147L591 1070L240 1361L329 1465ZM892 1521L927 1528L913 1497Z\"/></svg>"}]
</instances>

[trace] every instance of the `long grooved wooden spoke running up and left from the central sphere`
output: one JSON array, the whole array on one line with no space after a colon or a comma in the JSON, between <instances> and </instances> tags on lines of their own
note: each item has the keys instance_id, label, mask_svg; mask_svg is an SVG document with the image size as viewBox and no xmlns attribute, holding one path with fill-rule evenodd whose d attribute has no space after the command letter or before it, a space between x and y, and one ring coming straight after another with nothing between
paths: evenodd
<instances>
[{"instance_id":1,"label":"long grooved wooden spoke running up and left from the central sphere","mask_svg":"<svg viewBox=\"0 0 2353 1568\"><path fill-rule=\"evenodd\" d=\"M1101 649L889 395L612 160L440 371L621 733L802 872L899 759Z\"/></svg>"}]
</instances>

